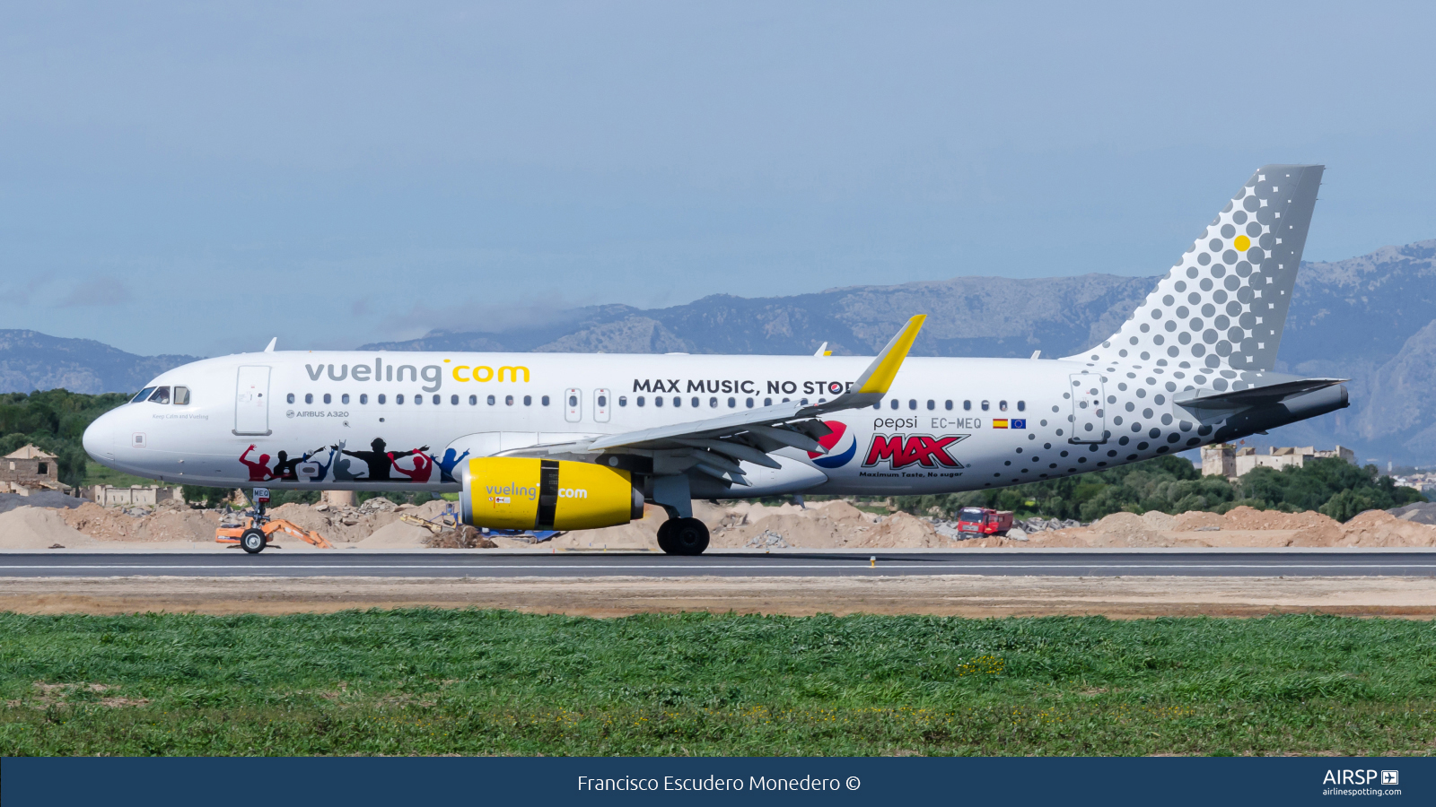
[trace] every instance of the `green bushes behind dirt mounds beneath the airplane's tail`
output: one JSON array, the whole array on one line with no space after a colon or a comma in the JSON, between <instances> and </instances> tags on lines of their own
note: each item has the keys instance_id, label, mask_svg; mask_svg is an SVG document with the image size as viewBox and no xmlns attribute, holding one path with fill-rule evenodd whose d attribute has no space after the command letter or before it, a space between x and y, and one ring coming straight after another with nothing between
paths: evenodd
<instances>
[{"instance_id":1,"label":"green bushes behind dirt mounds beneath the airplane's tail","mask_svg":"<svg viewBox=\"0 0 1436 807\"><path fill-rule=\"evenodd\" d=\"M1211 510L1226 513L1238 505L1256 510L1300 513L1317 510L1347 521L1363 510L1387 510L1423 501L1413 488L1396 487L1390 477L1379 475L1376 465L1357 468L1337 458L1323 458L1302 468L1256 468L1236 481L1203 477L1186 460L1157 457L1146 462L1119 465L1104 471L1045 480L991 491L948 495L900 495L900 510L943 514L962 507L1014 510L1018 517L1045 516L1096 521L1111 513L1186 513Z\"/></svg>"}]
</instances>

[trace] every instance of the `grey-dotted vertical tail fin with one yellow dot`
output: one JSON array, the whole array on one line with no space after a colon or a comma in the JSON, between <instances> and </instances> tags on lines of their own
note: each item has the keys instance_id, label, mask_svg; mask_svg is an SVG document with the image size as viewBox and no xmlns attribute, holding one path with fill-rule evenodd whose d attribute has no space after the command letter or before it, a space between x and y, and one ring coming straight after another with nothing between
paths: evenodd
<instances>
[{"instance_id":1,"label":"grey-dotted vertical tail fin with one yellow dot","mask_svg":"<svg viewBox=\"0 0 1436 807\"><path fill-rule=\"evenodd\" d=\"M1198 385L1272 369L1324 169L1258 168L1122 330L1067 358L1183 368Z\"/></svg>"}]
</instances>

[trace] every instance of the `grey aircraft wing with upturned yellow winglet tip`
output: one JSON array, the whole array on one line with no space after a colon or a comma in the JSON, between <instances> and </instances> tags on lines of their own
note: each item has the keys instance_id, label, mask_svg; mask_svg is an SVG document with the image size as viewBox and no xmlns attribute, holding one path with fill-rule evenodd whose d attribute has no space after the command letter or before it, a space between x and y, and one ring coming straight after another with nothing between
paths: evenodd
<instances>
[{"instance_id":1,"label":"grey aircraft wing with upturned yellow winglet tip","mask_svg":"<svg viewBox=\"0 0 1436 807\"><path fill-rule=\"evenodd\" d=\"M831 429L817 418L829 412L862 409L880 402L908 358L925 319L925 314L909 319L867 369L857 376L852 388L831 401L806 405L788 401L787 404L744 409L688 424L572 442L531 445L505 451L504 455L534 457L600 454L605 451L642 454L655 458L655 474L663 472L659 470L661 467L675 474L695 468L719 480L747 485L738 465L741 461L780 468L781 465L768 454L784 447L827 454L819 441L831 434Z\"/></svg>"}]
</instances>

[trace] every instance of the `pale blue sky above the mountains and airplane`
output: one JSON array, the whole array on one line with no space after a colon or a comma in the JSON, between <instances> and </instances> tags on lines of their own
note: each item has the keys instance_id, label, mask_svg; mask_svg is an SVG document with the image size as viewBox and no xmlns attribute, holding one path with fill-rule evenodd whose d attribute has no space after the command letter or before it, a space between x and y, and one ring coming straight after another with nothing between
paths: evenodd
<instances>
[{"instance_id":1,"label":"pale blue sky above the mountains and airplane","mask_svg":"<svg viewBox=\"0 0 1436 807\"><path fill-rule=\"evenodd\" d=\"M1430 4L0 7L0 327L349 347L592 303L1157 274L1264 162L1436 237Z\"/></svg>"}]
</instances>

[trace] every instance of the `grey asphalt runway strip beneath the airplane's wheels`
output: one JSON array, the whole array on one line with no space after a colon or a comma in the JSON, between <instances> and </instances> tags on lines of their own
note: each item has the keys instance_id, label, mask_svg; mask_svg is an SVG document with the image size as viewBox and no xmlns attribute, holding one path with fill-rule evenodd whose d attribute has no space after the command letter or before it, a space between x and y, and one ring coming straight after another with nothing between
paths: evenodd
<instances>
[{"instance_id":1,"label":"grey asphalt runway strip beneath the airplane's wheels","mask_svg":"<svg viewBox=\"0 0 1436 807\"><path fill-rule=\"evenodd\" d=\"M1436 553L3 554L0 577L1430 577Z\"/></svg>"}]
</instances>

